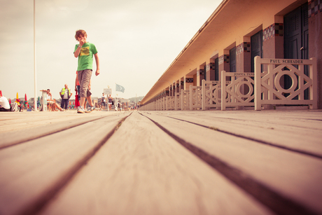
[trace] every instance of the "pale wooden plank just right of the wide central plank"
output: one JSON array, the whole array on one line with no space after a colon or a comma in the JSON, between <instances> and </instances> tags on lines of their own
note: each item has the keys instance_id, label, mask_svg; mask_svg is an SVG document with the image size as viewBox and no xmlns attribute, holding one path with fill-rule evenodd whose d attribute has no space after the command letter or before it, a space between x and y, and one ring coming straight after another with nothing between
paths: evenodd
<instances>
[{"instance_id":1,"label":"pale wooden plank just right of the wide central plank","mask_svg":"<svg viewBox=\"0 0 322 215\"><path fill-rule=\"evenodd\" d=\"M187 113L186 113L187 114ZM322 160L280 148L258 144L181 120L144 113L176 137L213 155L260 181L288 200L322 213ZM231 124L234 127L234 124ZM256 131L260 132L260 130ZM262 129L260 134L266 132Z\"/></svg>"}]
</instances>

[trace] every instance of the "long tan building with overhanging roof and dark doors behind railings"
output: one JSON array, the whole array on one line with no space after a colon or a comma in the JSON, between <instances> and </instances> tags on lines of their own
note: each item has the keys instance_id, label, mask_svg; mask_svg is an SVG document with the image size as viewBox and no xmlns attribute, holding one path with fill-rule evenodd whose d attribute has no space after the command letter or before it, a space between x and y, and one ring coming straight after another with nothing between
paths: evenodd
<instances>
[{"instance_id":1,"label":"long tan building with overhanging roof and dark doors behind railings","mask_svg":"<svg viewBox=\"0 0 322 215\"><path fill-rule=\"evenodd\" d=\"M321 12L321 0L222 1L141 105L188 90L190 85L201 86L202 80L220 81L221 71L254 72L255 56L315 57L318 109L322 109ZM282 85L290 88L292 80L285 76Z\"/></svg>"}]
</instances>

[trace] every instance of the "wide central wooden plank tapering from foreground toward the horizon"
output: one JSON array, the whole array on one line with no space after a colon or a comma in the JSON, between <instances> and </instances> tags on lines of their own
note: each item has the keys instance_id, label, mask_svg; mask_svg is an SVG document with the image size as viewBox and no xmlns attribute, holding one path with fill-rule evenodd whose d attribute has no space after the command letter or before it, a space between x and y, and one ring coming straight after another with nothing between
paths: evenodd
<instances>
[{"instance_id":1,"label":"wide central wooden plank tapering from foreground toward the horizon","mask_svg":"<svg viewBox=\"0 0 322 215\"><path fill-rule=\"evenodd\" d=\"M41 214L270 214L134 112Z\"/></svg>"}]
</instances>

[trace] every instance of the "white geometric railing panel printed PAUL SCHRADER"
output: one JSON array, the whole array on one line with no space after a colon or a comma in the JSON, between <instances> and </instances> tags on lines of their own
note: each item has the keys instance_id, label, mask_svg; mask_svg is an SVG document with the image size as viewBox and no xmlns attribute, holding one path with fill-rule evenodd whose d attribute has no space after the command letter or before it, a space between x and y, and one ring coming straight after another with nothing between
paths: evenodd
<instances>
[{"instance_id":1,"label":"white geometric railing panel printed PAUL SCHRADER","mask_svg":"<svg viewBox=\"0 0 322 215\"><path fill-rule=\"evenodd\" d=\"M265 74L261 72L262 64L267 64ZM307 74L304 73L305 65L309 67ZM281 85L283 76L289 76L292 80L288 89ZM308 98L304 98L304 90L309 90ZM267 95L262 95L263 91L266 91ZM260 110L263 104L302 104L309 105L310 109L317 109L317 92L315 57L310 60L255 57L255 110Z\"/></svg>"}]
</instances>

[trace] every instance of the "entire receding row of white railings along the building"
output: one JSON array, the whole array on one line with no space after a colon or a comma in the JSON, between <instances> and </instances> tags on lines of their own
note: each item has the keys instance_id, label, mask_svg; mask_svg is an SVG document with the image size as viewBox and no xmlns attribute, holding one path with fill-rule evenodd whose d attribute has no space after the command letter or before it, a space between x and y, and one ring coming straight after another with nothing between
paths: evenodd
<instances>
[{"instance_id":1,"label":"entire receding row of white railings along the building","mask_svg":"<svg viewBox=\"0 0 322 215\"><path fill-rule=\"evenodd\" d=\"M261 71L262 65L267 67L267 71ZM304 71L306 67L308 69ZM289 76L292 82L288 89L283 87L283 76ZM317 109L317 88L316 58L291 60L255 57L255 73L222 71L221 81L202 80L201 87L190 85L190 90L181 90L174 97L158 99L153 105L147 105L146 109L225 110L226 107L253 106L255 110L261 110L262 105L267 104L308 105L310 109Z\"/></svg>"}]
</instances>

